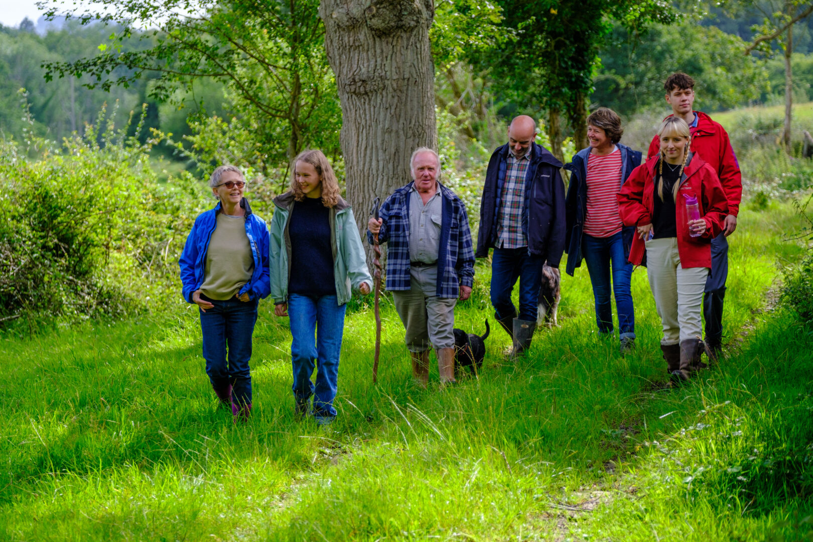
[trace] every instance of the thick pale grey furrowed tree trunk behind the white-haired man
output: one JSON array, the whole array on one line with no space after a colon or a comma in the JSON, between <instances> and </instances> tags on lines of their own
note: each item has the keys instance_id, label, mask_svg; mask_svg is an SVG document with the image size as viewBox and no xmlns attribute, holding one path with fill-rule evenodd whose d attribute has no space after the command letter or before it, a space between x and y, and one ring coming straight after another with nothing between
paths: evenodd
<instances>
[{"instance_id":1,"label":"thick pale grey furrowed tree trunk behind the white-haired man","mask_svg":"<svg viewBox=\"0 0 813 542\"><path fill-rule=\"evenodd\" d=\"M341 101L347 199L365 232L373 200L411 180L412 151L437 150L433 0L322 0L319 11Z\"/></svg>"}]
</instances>

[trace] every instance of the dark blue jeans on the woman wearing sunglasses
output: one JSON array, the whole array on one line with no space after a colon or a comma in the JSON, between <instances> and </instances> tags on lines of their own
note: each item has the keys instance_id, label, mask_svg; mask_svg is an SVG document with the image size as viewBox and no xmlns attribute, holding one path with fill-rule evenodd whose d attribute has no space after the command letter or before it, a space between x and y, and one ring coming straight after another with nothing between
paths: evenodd
<instances>
[{"instance_id":1,"label":"dark blue jeans on the woman wearing sunglasses","mask_svg":"<svg viewBox=\"0 0 813 542\"><path fill-rule=\"evenodd\" d=\"M251 335L257 322L259 300L244 302L233 297L219 301L201 297L214 305L206 312L200 311L206 374L215 390L232 384L234 404L250 405Z\"/></svg>"}]
</instances>

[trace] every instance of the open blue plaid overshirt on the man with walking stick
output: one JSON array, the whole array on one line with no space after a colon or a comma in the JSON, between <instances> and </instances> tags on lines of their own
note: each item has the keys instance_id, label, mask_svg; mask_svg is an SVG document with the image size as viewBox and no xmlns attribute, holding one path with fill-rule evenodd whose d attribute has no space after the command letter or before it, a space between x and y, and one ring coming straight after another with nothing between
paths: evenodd
<instances>
[{"instance_id":1,"label":"open blue plaid overshirt on the man with walking stick","mask_svg":"<svg viewBox=\"0 0 813 542\"><path fill-rule=\"evenodd\" d=\"M414 183L396 189L381 206L383 220L378 234L380 244L387 243L388 290L409 290L409 200ZM437 184L443 195L441 244L437 252L437 297L458 297L459 286L474 284L474 249L472 232L468 228L466 206L454 192ZM367 231L372 245L372 233Z\"/></svg>"}]
</instances>

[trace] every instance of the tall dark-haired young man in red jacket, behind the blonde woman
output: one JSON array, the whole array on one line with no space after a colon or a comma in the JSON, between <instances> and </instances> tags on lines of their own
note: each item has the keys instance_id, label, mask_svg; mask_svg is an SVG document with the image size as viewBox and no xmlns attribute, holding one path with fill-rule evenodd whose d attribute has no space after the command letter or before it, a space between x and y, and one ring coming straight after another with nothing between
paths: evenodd
<instances>
[{"instance_id":1,"label":"tall dark-haired young man in red jacket, behind the blonde woman","mask_svg":"<svg viewBox=\"0 0 813 542\"><path fill-rule=\"evenodd\" d=\"M728 216L724 229L711 240L711 274L706 281L703 297L703 318L706 320L706 345L720 353L723 344L723 300L725 280L728 277L728 241L726 237L737 229L737 213L742 197L742 177L737 156L728 141L728 133L720 124L701 111L693 111L694 80L685 73L669 76L663 84L666 101L672 106L672 115L679 116L689 124L692 133L691 149L717 172L728 199ZM648 158L660 152L657 136L652 139Z\"/></svg>"}]
</instances>

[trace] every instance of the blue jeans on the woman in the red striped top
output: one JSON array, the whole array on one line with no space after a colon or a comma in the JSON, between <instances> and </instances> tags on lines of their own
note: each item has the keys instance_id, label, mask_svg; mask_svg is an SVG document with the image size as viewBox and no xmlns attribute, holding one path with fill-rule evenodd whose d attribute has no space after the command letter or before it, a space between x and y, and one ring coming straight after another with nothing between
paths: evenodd
<instances>
[{"instance_id":1,"label":"blue jeans on the woman in the red striped top","mask_svg":"<svg viewBox=\"0 0 813 542\"><path fill-rule=\"evenodd\" d=\"M611 333L612 306L610 302L610 271L615 307L618 309L618 326L621 338L635 338L635 310L630 282L633 264L624 255L622 232L609 237L593 237L586 233L581 237L581 254L587 263L593 297L596 301L596 323L601 333Z\"/></svg>"}]
</instances>

